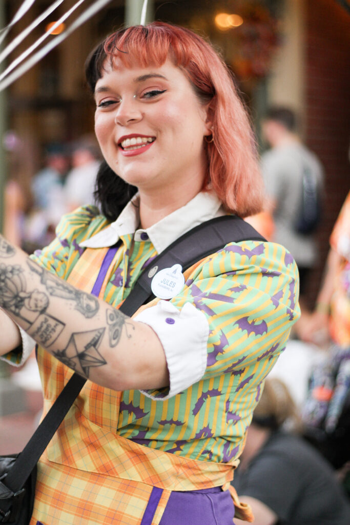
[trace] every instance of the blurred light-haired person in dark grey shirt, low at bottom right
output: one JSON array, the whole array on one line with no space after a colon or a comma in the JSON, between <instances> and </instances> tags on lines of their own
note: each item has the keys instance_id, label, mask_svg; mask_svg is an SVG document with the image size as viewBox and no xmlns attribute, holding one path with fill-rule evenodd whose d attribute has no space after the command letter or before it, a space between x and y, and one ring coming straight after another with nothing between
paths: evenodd
<instances>
[{"instance_id":1,"label":"blurred light-haired person in dark grey shirt, low at bottom right","mask_svg":"<svg viewBox=\"0 0 350 525\"><path fill-rule=\"evenodd\" d=\"M267 379L232 484L256 525L348 525L350 507L335 471L297 435L300 428L288 388Z\"/></svg>"}]
</instances>

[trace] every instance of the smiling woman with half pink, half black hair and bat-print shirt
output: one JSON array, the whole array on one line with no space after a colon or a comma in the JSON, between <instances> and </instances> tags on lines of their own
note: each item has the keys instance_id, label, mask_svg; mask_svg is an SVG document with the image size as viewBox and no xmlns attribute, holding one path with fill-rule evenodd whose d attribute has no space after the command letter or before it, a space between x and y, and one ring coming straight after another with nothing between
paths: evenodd
<instances>
[{"instance_id":1,"label":"smiling woman with half pink, half black hair and bat-print shirt","mask_svg":"<svg viewBox=\"0 0 350 525\"><path fill-rule=\"evenodd\" d=\"M184 272L176 250L171 268L152 265L193 227L260 210L247 113L224 62L185 28L116 31L86 71L100 208L63 217L31 260L0 237L0 354L21 364L38 343L45 411L72 370L89 379L39 460L30 525L251 521L229 481L299 317L295 262L232 234ZM124 316L144 270L154 299Z\"/></svg>"}]
</instances>

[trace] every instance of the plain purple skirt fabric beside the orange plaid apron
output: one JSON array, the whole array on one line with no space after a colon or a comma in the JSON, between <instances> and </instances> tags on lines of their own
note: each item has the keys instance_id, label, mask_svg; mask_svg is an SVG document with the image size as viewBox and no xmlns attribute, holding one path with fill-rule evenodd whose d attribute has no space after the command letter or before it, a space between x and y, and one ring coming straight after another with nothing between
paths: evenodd
<instances>
[{"instance_id":1,"label":"plain purple skirt fabric beside the orange plaid apron","mask_svg":"<svg viewBox=\"0 0 350 525\"><path fill-rule=\"evenodd\" d=\"M221 487L172 492L160 525L232 525L235 506Z\"/></svg>"}]
</instances>

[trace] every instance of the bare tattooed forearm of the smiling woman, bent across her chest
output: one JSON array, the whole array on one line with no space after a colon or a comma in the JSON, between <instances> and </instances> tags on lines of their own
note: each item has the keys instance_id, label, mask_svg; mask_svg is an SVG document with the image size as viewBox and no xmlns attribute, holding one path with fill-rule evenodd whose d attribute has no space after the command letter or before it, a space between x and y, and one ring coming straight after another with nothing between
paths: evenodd
<instances>
[{"instance_id":1,"label":"bare tattooed forearm of the smiling woman, bent across her chest","mask_svg":"<svg viewBox=\"0 0 350 525\"><path fill-rule=\"evenodd\" d=\"M52 275L2 236L0 308L51 355L94 383L114 390L169 384L162 344L147 324ZM20 340L15 323L6 316L0 323L8 330L6 342L0 341L4 354Z\"/></svg>"}]
</instances>

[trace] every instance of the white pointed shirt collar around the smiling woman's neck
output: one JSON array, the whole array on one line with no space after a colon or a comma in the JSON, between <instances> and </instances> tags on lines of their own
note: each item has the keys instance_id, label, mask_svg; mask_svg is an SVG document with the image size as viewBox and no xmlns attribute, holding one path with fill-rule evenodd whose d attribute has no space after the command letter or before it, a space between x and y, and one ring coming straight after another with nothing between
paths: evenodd
<instances>
[{"instance_id":1,"label":"white pointed shirt collar around the smiling woman's neck","mask_svg":"<svg viewBox=\"0 0 350 525\"><path fill-rule=\"evenodd\" d=\"M147 229L137 229L139 217L139 194L136 194L125 206L114 223L84 240L80 246L84 248L105 248L113 246L122 235L135 234L135 241L147 234L153 246L160 254L167 246L191 228L205 220L225 215L225 210L218 197L212 192L200 192L185 206L167 215Z\"/></svg>"}]
</instances>

